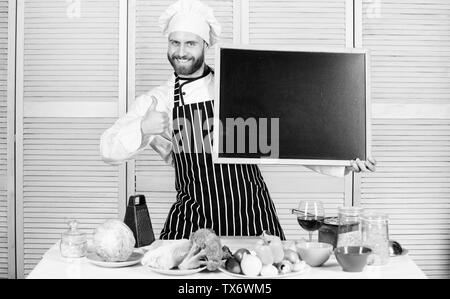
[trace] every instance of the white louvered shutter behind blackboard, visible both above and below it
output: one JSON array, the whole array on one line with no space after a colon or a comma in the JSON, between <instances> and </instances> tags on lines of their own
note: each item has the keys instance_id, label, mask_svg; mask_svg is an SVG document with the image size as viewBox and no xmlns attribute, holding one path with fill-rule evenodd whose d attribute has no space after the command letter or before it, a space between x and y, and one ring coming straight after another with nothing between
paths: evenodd
<instances>
[{"instance_id":1,"label":"white louvered shutter behind blackboard, visible both above and below it","mask_svg":"<svg viewBox=\"0 0 450 299\"><path fill-rule=\"evenodd\" d=\"M353 36L348 1L250 0L248 11L248 41L253 45L343 48ZM322 200L326 216L337 216L339 206L351 205L351 176L329 177L302 166L267 165L261 170L288 239L307 236L291 214L300 200Z\"/></svg>"}]
</instances>

